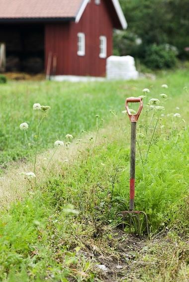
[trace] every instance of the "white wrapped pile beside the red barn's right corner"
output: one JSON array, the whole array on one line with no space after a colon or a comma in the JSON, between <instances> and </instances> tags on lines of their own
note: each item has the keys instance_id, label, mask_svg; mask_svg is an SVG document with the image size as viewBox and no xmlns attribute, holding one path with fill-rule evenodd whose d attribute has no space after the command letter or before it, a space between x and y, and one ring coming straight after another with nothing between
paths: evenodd
<instances>
[{"instance_id":1,"label":"white wrapped pile beside the red barn's right corner","mask_svg":"<svg viewBox=\"0 0 189 282\"><path fill-rule=\"evenodd\" d=\"M139 77L135 68L134 58L131 56L110 56L106 61L107 79L129 80Z\"/></svg>"}]
</instances>

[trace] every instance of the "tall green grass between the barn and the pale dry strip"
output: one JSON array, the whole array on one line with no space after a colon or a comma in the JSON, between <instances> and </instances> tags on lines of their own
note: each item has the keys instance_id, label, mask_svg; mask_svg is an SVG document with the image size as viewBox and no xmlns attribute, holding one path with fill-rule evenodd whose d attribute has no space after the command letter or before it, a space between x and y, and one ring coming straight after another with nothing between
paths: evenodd
<instances>
[{"instance_id":1,"label":"tall green grass between the barn and the pale dry strip","mask_svg":"<svg viewBox=\"0 0 189 282\"><path fill-rule=\"evenodd\" d=\"M127 96L139 96L143 88L158 94L161 85L167 83L167 94L172 98L184 93L188 86L186 70L161 74L156 81L138 80L129 82L56 83L12 82L0 86L0 164L25 159L28 156L24 136L19 124L29 124L31 148L34 145L36 128L32 105L39 102L51 106L51 112L43 124L44 135L40 140L41 150L50 148L55 140L64 139L70 133L78 136L82 130L95 128L95 115L104 122L112 117L110 111L124 110Z\"/></svg>"}]
</instances>

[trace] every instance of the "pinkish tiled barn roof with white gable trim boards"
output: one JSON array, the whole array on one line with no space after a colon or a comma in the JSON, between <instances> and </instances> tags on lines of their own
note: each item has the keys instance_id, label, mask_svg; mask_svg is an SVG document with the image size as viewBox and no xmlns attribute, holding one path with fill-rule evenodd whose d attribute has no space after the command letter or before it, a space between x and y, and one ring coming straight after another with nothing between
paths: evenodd
<instances>
[{"instance_id":1,"label":"pinkish tiled barn roof with white gable trim boards","mask_svg":"<svg viewBox=\"0 0 189 282\"><path fill-rule=\"evenodd\" d=\"M89 0L0 0L0 21L73 19L79 22ZM118 0L111 0L122 28L127 23Z\"/></svg>"}]
</instances>

